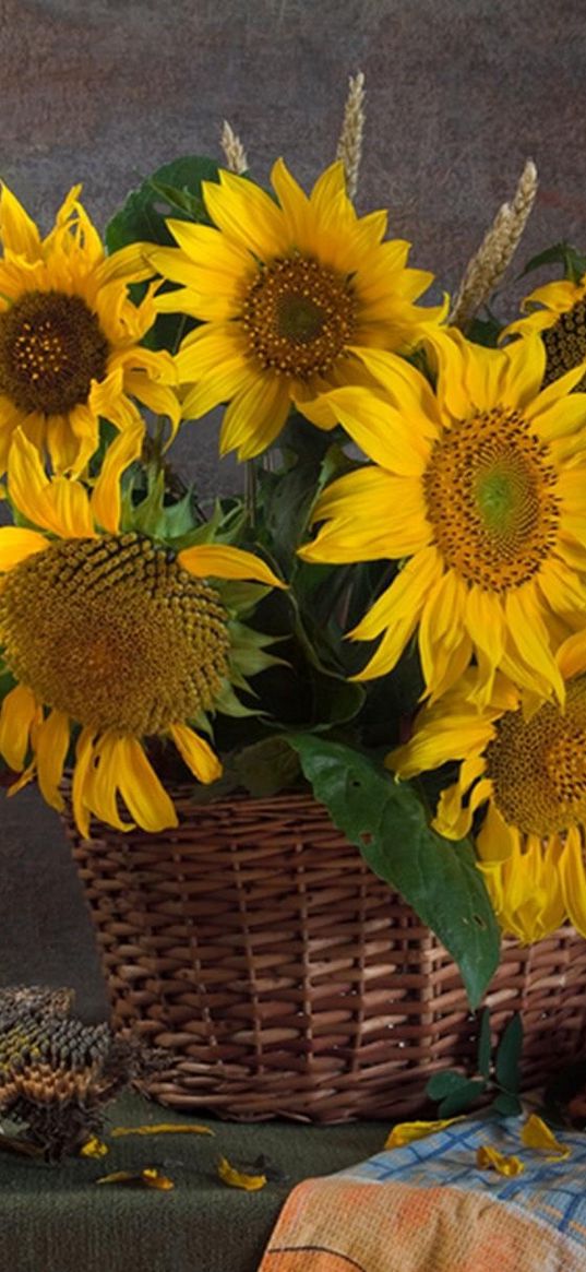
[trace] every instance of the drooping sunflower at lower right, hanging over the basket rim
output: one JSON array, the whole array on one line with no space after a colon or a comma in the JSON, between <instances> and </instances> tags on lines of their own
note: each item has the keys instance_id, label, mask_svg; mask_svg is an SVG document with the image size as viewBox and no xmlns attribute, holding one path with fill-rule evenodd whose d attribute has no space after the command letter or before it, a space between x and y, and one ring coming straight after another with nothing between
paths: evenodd
<instances>
[{"instance_id":1,"label":"drooping sunflower at lower right, hanging over the basket rim","mask_svg":"<svg viewBox=\"0 0 586 1272\"><path fill-rule=\"evenodd\" d=\"M436 829L450 840L482 824L475 846L501 927L524 943L554 932L566 918L586 936L586 633L558 654L568 675L566 710L543 702L528 715L516 689L498 677L489 705L460 686L421 712L412 739L386 759L400 777L460 761L444 790Z\"/></svg>"}]
</instances>

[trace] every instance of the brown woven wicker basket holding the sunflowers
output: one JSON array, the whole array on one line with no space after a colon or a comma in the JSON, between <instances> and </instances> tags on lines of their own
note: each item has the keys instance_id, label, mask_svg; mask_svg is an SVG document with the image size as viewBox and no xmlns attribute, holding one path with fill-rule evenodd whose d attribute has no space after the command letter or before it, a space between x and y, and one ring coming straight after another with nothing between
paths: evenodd
<instances>
[{"instance_id":1,"label":"brown woven wicker basket holding the sunflowers","mask_svg":"<svg viewBox=\"0 0 586 1272\"><path fill-rule=\"evenodd\" d=\"M208 806L173 792L163 836L67 832L114 1023L169 1048L149 1094L222 1117L339 1122L419 1112L475 1054L455 964L306 795ZM581 1053L586 941L506 941L487 996L522 1011L524 1080Z\"/></svg>"}]
</instances>

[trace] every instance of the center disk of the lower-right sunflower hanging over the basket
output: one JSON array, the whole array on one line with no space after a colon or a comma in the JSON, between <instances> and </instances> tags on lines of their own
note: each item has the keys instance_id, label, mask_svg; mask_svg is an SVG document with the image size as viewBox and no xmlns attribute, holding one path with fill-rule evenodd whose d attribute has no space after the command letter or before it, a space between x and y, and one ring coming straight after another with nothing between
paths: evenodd
<instances>
[{"instance_id":1,"label":"center disk of the lower-right sunflower hanging over the basket","mask_svg":"<svg viewBox=\"0 0 586 1272\"><path fill-rule=\"evenodd\" d=\"M586 677L568 687L566 712L547 702L529 720L510 711L487 749L494 800L524 834L586 823Z\"/></svg>"}]
</instances>

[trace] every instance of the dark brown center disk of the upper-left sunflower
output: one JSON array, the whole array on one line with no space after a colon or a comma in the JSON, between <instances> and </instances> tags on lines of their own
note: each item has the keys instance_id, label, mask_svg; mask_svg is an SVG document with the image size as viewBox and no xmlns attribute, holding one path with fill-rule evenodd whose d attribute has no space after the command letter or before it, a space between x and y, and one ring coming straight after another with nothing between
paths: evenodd
<instances>
[{"instance_id":1,"label":"dark brown center disk of the upper-left sunflower","mask_svg":"<svg viewBox=\"0 0 586 1272\"><path fill-rule=\"evenodd\" d=\"M81 296L27 291L0 314L0 392L19 411L72 411L107 361L108 341Z\"/></svg>"}]
</instances>

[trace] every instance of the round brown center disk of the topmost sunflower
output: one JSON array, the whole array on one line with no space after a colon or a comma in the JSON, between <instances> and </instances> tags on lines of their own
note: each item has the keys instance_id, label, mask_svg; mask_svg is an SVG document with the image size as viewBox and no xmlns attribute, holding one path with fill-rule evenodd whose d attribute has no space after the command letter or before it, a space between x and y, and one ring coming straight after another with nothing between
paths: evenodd
<instances>
[{"instance_id":1,"label":"round brown center disk of the topmost sunflower","mask_svg":"<svg viewBox=\"0 0 586 1272\"><path fill-rule=\"evenodd\" d=\"M356 298L342 275L301 256L262 266L243 305L250 352L264 370L324 375L351 342Z\"/></svg>"}]
</instances>

